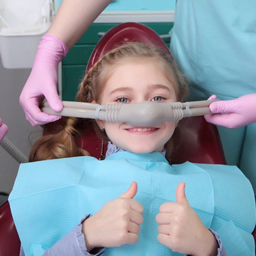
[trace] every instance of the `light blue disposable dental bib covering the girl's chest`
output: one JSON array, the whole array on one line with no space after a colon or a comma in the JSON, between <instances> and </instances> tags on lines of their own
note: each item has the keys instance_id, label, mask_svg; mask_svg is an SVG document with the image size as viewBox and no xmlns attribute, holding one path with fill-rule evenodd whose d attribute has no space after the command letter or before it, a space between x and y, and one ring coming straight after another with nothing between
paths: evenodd
<instances>
[{"instance_id":1,"label":"light blue disposable dental bib covering the girl's chest","mask_svg":"<svg viewBox=\"0 0 256 256\"><path fill-rule=\"evenodd\" d=\"M254 192L238 168L190 162L170 166L158 152L124 151L104 161L81 156L21 164L9 202L25 255L42 255L132 181L138 184L134 199L144 207L139 241L106 248L106 256L181 255L158 242L155 217L162 203L176 201L182 181L190 205L220 235L228 255L254 252Z\"/></svg>"}]
</instances>

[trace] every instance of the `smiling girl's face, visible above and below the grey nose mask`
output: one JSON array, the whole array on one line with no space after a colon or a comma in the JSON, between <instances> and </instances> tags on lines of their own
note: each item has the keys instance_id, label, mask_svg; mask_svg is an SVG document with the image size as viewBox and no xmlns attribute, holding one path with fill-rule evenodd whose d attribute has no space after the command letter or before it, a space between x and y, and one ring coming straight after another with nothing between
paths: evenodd
<instances>
[{"instance_id":1,"label":"smiling girl's face, visible above and below the grey nose mask","mask_svg":"<svg viewBox=\"0 0 256 256\"><path fill-rule=\"evenodd\" d=\"M170 81L171 80L171 81ZM129 61L118 64L106 81L100 104L130 104L143 101L175 102L175 80L167 79L153 61ZM109 140L117 147L134 153L162 151L172 137L177 121L140 127L127 123L97 120Z\"/></svg>"}]
</instances>

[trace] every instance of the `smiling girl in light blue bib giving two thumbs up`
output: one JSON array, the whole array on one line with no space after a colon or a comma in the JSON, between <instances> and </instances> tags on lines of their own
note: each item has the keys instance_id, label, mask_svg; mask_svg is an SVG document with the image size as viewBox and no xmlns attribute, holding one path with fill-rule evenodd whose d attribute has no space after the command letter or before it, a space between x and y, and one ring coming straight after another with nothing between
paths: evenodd
<instances>
[{"instance_id":1,"label":"smiling girl in light blue bib giving two thumbs up","mask_svg":"<svg viewBox=\"0 0 256 256\"><path fill-rule=\"evenodd\" d=\"M78 100L176 102L187 91L164 52L128 43L88 71ZM240 170L171 166L177 121L138 127L96 120L109 141L99 161L76 146L86 122L65 119L63 129L42 137L30 155L31 161L63 159L20 167L9 201L21 255L254 254L254 193Z\"/></svg>"}]
</instances>

